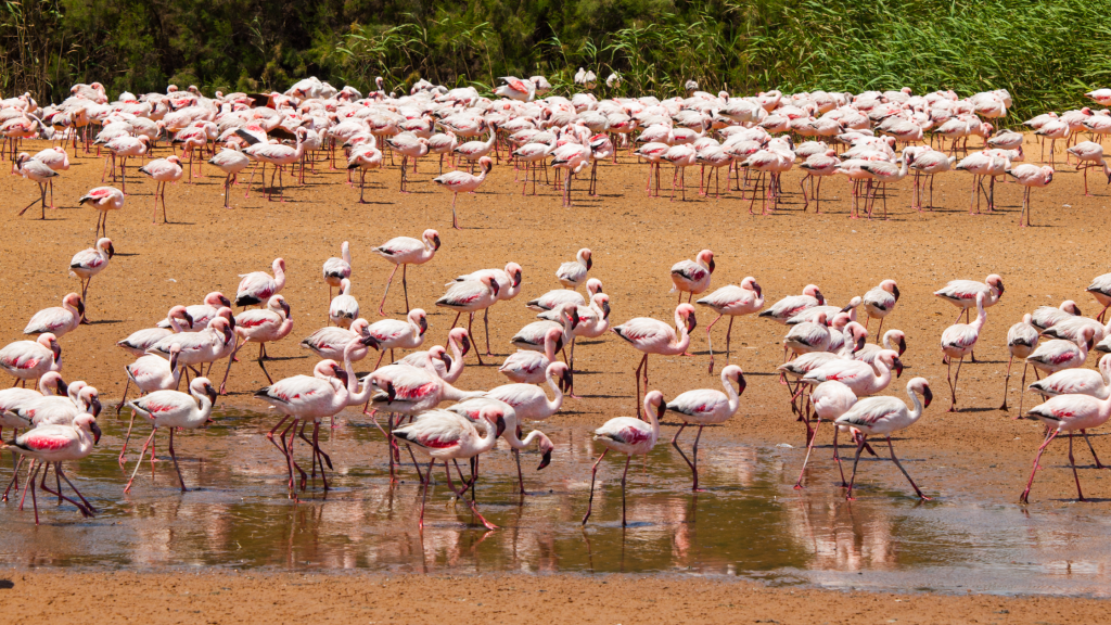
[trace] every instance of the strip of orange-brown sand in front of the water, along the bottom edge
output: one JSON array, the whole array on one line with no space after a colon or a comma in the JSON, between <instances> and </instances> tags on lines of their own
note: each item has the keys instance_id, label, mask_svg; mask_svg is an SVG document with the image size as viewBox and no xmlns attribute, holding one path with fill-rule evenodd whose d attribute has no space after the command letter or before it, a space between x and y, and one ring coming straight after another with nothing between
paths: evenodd
<instances>
[{"instance_id":1,"label":"strip of orange-brown sand in front of the water, along the bottom edge","mask_svg":"<svg viewBox=\"0 0 1111 625\"><path fill-rule=\"evenodd\" d=\"M1095 599L608 576L0 573L10 623L1094 623ZM1103 616L1100 616L1103 615Z\"/></svg>"}]
</instances>

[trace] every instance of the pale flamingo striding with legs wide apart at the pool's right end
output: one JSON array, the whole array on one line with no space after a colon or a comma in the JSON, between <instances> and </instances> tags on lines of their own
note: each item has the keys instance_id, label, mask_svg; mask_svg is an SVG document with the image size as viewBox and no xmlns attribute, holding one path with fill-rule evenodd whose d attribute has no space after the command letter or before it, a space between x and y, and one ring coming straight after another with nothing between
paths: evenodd
<instances>
[{"instance_id":1,"label":"pale flamingo striding with legs wide apart at the pool's right end","mask_svg":"<svg viewBox=\"0 0 1111 625\"><path fill-rule=\"evenodd\" d=\"M910 482L914 493L918 494L920 499L927 500L927 497L922 490L914 484L914 479L911 478L907 469L903 468L899 458L895 457L895 448L891 444L891 435L901 429L905 429L922 417L922 410L930 407L930 401L933 400L933 394L930 391L930 384L925 378L912 378L907 383L907 395L910 396L910 400L913 407L908 408L900 399L895 397L868 397L857 401L852 408L849 408L843 415L837 418L837 425L847 426L854 430L857 437L857 458L852 463L852 478L849 479L849 492L845 494L845 498L852 500L852 487L857 483L857 465L860 463L860 453L864 449L864 444L868 442L868 437L871 435L881 435L888 439L888 449L891 450L891 462L899 467L907 482ZM919 395L922 399L919 399Z\"/></svg>"}]
</instances>

